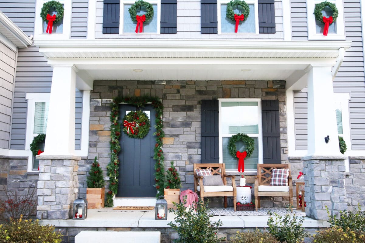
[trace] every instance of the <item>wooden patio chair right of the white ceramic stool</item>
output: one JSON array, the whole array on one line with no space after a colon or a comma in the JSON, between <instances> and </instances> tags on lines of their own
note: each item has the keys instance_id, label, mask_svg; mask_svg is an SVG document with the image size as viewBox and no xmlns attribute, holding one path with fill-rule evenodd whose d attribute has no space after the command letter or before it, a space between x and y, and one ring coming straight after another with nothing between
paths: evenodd
<instances>
[{"instance_id":1,"label":"wooden patio chair right of the white ceramic stool","mask_svg":"<svg viewBox=\"0 0 365 243\"><path fill-rule=\"evenodd\" d=\"M270 186L273 169L289 169L287 186ZM289 203L293 205L293 184L289 164L257 164L257 176L255 176L255 208L260 208L260 196L289 197ZM291 211L292 208L291 208Z\"/></svg>"}]
</instances>

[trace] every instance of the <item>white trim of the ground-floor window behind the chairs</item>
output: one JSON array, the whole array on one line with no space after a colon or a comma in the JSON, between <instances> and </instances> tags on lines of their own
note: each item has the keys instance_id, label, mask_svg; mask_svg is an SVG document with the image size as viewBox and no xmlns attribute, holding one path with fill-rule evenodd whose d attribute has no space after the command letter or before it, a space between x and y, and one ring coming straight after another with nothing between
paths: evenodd
<instances>
[{"instance_id":1,"label":"white trim of the ground-floor window behind the chairs","mask_svg":"<svg viewBox=\"0 0 365 243\"><path fill-rule=\"evenodd\" d=\"M223 98L218 99L219 103L219 123L222 124L222 117L220 114L222 114L222 102L257 102L257 111L258 111L258 134L247 134L248 136L257 137L258 141L258 162L259 164L262 164L264 162L264 153L263 153L263 146L262 146L262 114L261 114L261 99L255 99L255 98ZM222 145L222 129L219 125L219 137L218 137L218 144L219 144L219 163L223 163L223 145ZM230 134L233 136L234 134ZM226 137L226 136L225 136ZM234 172L237 171L237 169L226 169L227 172ZM253 169L247 169L245 172L250 171L256 171Z\"/></svg>"}]
</instances>

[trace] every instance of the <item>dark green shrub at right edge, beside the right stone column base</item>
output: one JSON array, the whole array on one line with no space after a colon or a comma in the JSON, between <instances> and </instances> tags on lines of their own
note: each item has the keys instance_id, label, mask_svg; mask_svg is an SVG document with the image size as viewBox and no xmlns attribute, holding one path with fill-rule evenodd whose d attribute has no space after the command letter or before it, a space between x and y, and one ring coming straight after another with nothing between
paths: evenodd
<instances>
[{"instance_id":1,"label":"dark green shrub at right edge, beside the right stone column base","mask_svg":"<svg viewBox=\"0 0 365 243\"><path fill-rule=\"evenodd\" d=\"M326 210L328 214L328 222L331 224L331 227L338 226L343 230L349 228L356 232L365 233L365 212L361 212L360 204L357 205L357 209L354 211L340 211L339 218L337 218L337 215L331 215L327 206Z\"/></svg>"}]
</instances>

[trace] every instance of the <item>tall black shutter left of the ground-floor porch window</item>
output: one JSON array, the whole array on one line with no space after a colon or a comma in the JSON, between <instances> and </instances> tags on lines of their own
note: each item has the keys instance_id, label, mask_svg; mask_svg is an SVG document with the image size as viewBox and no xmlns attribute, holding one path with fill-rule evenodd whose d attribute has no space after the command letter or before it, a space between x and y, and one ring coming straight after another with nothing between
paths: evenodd
<instances>
[{"instance_id":1,"label":"tall black shutter left of the ground-floor porch window","mask_svg":"<svg viewBox=\"0 0 365 243\"><path fill-rule=\"evenodd\" d=\"M219 163L218 100L201 101L201 162Z\"/></svg>"}]
</instances>

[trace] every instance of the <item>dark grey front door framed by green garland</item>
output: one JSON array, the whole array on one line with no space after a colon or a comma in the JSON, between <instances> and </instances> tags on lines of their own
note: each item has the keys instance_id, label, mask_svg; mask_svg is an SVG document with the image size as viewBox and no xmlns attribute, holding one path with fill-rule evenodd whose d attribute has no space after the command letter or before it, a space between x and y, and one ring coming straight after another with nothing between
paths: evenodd
<instances>
[{"instance_id":1,"label":"dark grey front door framed by green garland","mask_svg":"<svg viewBox=\"0 0 365 243\"><path fill-rule=\"evenodd\" d=\"M152 105L137 108L135 106L122 104L119 106L119 124L123 126L123 117L133 110L143 110L151 122L149 133L142 139L130 138L123 131L121 132L120 153L119 153L119 184L117 197L155 197L154 187L154 164L153 149L156 143L155 136L155 114ZM122 128L123 129L123 128Z\"/></svg>"}]
</instances>

